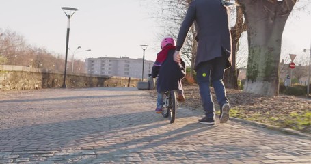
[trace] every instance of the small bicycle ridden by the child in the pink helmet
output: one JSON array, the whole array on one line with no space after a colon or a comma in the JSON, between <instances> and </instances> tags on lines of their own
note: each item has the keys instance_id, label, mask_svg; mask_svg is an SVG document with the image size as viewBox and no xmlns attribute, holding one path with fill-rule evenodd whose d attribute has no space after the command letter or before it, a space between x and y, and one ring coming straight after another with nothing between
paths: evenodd
<instances>
[{"instance_id":1,"label":"small bicycle ridden by the child in the pink helmet","mask_svg":"<svg viewBox=\"0 0 311 164\"><path fill-rule=\"evenodd\" d=\"M163 95L163 111L164 118L169 118L170 123L174 123L176 118L176 109L178 108L178 101L174 90L164 92Z\"/></svg>"}]
</instances>

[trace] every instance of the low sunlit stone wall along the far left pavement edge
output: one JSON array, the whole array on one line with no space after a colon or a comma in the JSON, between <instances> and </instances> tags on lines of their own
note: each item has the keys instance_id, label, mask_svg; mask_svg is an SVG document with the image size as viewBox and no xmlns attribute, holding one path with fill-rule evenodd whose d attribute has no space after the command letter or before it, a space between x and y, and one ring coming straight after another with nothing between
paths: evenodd
<instances>
[{"instance_id":1,"label":"low sunlit stone wall along the far left pavement edge","mask_svg":"<svg viewBox=\"0 0 311 164\"><path fill-rule=\"evenodd\" d=\"M136 87L140 79L129 77L66 74L67 88L76 87ZM0 65L0 91L59 88L64 72L25 66Z\"/></svg>"}]
</instances>

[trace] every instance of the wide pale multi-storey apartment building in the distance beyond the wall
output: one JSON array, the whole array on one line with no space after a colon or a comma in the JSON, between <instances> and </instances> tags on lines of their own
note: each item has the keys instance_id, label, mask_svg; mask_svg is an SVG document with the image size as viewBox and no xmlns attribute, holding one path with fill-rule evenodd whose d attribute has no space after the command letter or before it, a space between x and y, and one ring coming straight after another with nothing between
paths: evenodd
<instances>
[{"instance_id":1,"label":"wide pale multi-storey apartment building in the distance beyond the wall","mask_svg":"<svg viewBox=\"0 0 311 164\"><path fill-rule=\"evenodd\" d=\"M144 79L152 71L154 61L145 60ZM143 59L129 57L98 57L85 59L87 74L117 77L142 77Z\"/></svg>"}]
</instances>

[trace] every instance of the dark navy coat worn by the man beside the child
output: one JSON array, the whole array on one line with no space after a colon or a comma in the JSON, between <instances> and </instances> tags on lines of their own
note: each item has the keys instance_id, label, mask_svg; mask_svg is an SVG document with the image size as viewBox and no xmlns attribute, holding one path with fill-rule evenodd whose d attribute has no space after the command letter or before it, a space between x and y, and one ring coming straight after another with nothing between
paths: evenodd
<instances>
[{"instance_id":1,"label":"dark navy coat worn by the man beside the child","mask_svg":"<svg viewBox=\"0 0 311 164\"><path fill-rule=\"evenodd\" d=\"M228 59L226 68L231 66L231 36L228 25L228 8L220 0L193 0L187 10L177 38L177 50L182 47L189 28L196 23L198 35L195 70L204 61L224 56Z\"/></svg>"}]
</instances>

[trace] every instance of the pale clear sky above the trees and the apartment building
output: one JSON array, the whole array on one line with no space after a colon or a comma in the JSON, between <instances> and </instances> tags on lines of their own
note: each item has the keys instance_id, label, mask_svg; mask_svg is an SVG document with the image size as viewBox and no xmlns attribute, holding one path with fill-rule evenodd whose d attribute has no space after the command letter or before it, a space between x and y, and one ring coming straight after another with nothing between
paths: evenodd
<instances>
[{"instance_id":1,"label":"pale clear sky above the trees and the apartment building","mask_svg":"<svg viewBox=\"0 0 311 164\"><path fill-rule=\"evenodd\" d=\"M0 28L10 29L26 42L44 47L50 52L65 54L67 18L61 7L77 8L71 18L69 47L72 50L91 49L76 53L75 59L89 57L141 58L140 44L150 45L145 59L154 61L159 49L157 34L161 30L150 16L152 0L7 0L0 5ZM298 4L299 2L297 2ZM289 53L308 57L311 44L311 7L302 12L294 10L286 23L282 40L281 59ZM71 52L68 57L71 59Z\"/></svg>"}]
</instances>

